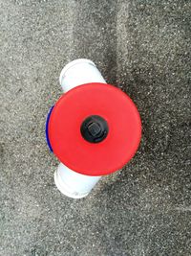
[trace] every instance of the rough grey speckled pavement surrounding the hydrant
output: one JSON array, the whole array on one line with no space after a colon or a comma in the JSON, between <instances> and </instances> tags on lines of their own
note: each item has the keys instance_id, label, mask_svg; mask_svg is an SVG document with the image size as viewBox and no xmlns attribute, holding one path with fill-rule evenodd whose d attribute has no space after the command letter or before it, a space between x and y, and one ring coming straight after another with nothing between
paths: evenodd
<instances>
[{"instance_id":1,"label":"rough grey speckled pavement surrounding the hydrant","mask_svg":"<svg viewBox=\"0 0 191 256\"><path fill-rule=\"evenodd\" d=\"M0 0L0 255L191 255L191 2ZM134 159L88 197L55 188L58 77L93 59L138 105Z\"/></svg>"}]
</instances>

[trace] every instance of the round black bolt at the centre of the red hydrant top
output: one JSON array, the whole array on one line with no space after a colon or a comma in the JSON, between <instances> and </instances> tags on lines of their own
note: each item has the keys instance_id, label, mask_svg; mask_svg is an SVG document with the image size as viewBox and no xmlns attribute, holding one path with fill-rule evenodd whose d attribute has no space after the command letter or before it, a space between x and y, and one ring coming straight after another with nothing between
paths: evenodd
<instances>
[{"instance_id":1,"label":"round black bolt at the centre of the red hydrant top","mask_svg":"<svg viewBox=\"0 0 191 256\"><path fill-rule=\"evenodd\" d=\"M103 141L108 134L108 124L100 116L87 117L81 125L81 135L89 142L97 143Z\"/></svg>"}]
</instances>

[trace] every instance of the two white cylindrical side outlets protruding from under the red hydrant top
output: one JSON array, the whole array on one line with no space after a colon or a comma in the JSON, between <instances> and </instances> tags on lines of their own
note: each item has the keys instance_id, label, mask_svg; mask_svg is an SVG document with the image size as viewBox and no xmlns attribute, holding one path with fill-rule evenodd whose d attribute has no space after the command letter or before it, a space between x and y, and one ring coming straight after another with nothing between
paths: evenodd
<instances>
[{"instance_id":1,"label":"two white cylindrical side outlets protruding from under the red hydrant top","mask_svg":"<svg viewBox=\"0 0 191 256\"><path fill-rule=\"evenodd\" d=\"M61 71L59 82L64 93L80 84L106 83L95 63L85 58L79 58L67 64ZM100 177L78 174L60 163L54 173L54 182L58 190L67 197L84 198L95 187Z\"/></svg>"}]
</instances>

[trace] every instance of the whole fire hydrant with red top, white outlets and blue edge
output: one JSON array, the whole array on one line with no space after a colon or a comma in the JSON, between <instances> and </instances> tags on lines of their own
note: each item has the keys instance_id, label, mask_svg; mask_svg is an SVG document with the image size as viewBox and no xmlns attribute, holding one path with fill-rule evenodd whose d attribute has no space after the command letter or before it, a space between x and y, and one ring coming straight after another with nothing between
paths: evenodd
<instances>
[{"instance_id":1,"label":"whole fire hydrant with red top, white outlets and blue edge","mask_svg":"<svg viewBox=\"0 0 191 256\"><path fill-rule=\"evenodd\" d=\"M140 117L129 96L107 84L89 59L67 64L59 82L64 94L46 124L48 145L60 161L54 182L62 194L84 198L102 175L116 172L134 156Z\"/></svg>"}]
</instances>

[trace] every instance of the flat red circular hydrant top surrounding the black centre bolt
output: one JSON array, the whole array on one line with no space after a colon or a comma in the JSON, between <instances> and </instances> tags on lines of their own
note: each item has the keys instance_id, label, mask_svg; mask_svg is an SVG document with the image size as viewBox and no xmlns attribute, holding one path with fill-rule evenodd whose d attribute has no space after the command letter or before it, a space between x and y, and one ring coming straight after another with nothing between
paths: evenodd
<instances>
[{"instance_id":1,"label":"flat red circular hydrant top surrounding the black centre bolt","mask_svg":"<svg viewBox=\"0 0 191 256\"><path fill-rule=\"evenodd\" d=\"M91 115L108 123L109 133L99 143L86 141L80 132ZM108 175L122 168L138 150L141 123L136 105L125 93L94 82L74 87L57 101L48 131L54 154L67 167L83 175Z\"/></svg>"}]
</instances>

